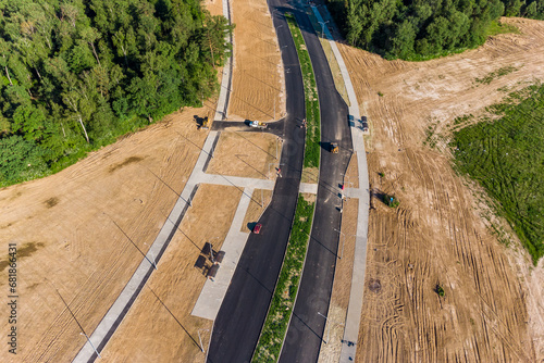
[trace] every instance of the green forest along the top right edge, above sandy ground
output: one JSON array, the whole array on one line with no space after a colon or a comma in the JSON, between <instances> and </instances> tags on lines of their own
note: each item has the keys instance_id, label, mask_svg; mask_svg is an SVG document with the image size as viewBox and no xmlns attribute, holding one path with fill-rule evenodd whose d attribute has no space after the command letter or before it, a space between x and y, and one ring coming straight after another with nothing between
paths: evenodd
<instances>
[{"instance_id":1,"label":"green forest along the top right edge, above sandy ground","mask_svg":"<svg viewBox=\"0 0 544 363\"><path fill-rule=\"evenodd\" d=\"M478 47L490 35L490 28L499 27L497 18L502 15L544 20L544 0L327 0L327 3L351 46L386 59L425 60Z\"/></svg>"}]
</instances>

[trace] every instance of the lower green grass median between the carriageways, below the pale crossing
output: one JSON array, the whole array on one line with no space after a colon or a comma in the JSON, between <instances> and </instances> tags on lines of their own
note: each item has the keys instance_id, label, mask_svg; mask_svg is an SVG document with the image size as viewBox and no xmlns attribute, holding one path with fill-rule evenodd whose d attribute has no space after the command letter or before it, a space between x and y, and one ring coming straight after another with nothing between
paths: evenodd
<instances>
[{"instance_id":1,"label":"lower green grass median between the carriageways, below the pale crossing","mask_svg":"<svg viewBox=\"0 0 544 363\"><path fill-rule=\"evenodd\" d=\"M287 333L310 238L314 202L298 196L289 243L252 362L277 362Z\"/></svg>"}]
</instances>

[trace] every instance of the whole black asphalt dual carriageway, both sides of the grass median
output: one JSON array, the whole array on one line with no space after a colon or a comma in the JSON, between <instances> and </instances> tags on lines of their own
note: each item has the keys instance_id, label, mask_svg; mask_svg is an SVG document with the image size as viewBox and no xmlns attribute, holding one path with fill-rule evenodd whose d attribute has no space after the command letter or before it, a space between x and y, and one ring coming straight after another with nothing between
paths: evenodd
<instances>
[{"instance_id":1,"label":"whole black asphalt dual carriageway, both sides of the grass median","mask_svg":"<svg viewBox=\"0 0 544 363\"><path fill-rule=\"evenodd\" d=\"M270 0L285 68L287 116L283 123L281 157L283 177L274 188L270 206L260 223L260 235L251 235L238 262L231 286L214 322L208 362L250 362L275 288L296 208L304 159L305 117L302 78L296 49L283 16L290 11L300 24L318 83L321 108L320 185L308 254L294 314L288 327L282 362L316 362L323 339L338 250L342 174L350 157L351 136L347 105L336 92L333 77L317 35L304 11L285 1ZM339 153L329 152L338 142ZM318 314L318 312L320 314Z\"/></svg>"}]
</instances>

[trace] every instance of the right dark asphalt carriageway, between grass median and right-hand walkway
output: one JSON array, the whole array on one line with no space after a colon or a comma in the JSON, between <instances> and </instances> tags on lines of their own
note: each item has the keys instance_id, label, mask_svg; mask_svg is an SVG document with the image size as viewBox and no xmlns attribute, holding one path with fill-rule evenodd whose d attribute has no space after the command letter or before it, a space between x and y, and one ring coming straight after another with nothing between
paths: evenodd
<instances>
[{"instance_id":1,"label":"right dark asphalt carriageway, between grass median and right-hand walkway","mask_svg":"<svg viewBox=\"0 0 544 363\"><path fill-rule=\"evenodd\" d=\"M300 287L280 362L317 362L336 266L341 229L341 186L351 155L348 108L336 91L325 54L304 12L295 13L312 61L321 109L320 184ZM337 142L339 152L329 152ZM348 281L346 281L348 283Z\"/></svg>"}]
</instances>

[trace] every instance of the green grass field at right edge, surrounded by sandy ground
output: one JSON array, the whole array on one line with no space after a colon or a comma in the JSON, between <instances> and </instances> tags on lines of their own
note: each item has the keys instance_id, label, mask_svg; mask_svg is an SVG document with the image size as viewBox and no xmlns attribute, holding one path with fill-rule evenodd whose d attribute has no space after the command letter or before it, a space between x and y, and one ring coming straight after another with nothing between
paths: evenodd
<instances>
[{"instance_id":1,"label":"green grass field at right edge, surrounded by sandy ground","mask_svg":"<svg viewBox=\"0 0 544 363\"><path fill-rule=\"evenodd\" d=\"M457 167L496 201L536 264L544 255L544 85L510 93L483 120L454 133Z\"/></svg>"}]
</instances>

